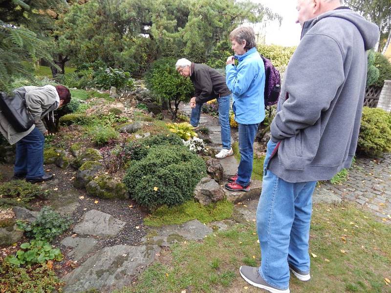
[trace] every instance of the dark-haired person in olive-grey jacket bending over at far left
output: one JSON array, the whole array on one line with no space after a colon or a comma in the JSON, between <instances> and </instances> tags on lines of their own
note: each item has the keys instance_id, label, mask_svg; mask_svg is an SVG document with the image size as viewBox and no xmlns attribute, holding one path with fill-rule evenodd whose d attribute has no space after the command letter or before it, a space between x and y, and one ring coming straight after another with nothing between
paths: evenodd
<instances>
[{"instance_id":1,"label":"dark-haired person in olive-grey jacket bending over at far left","mask_svg":"<svg viewBox=\"0 0 391 293\"><path fill-rule=\"evenodd\" d=\"M47 181L53 174L43 171L44 136L48 134L42 119L54 117L53 111L70 101L69 89L63 85L24 86L24 99L34 118L34 124L24 132L17 132L0 111L0 132L13 145L16 144L14 178L28 182Z\"/></svg>"}]
</instances>

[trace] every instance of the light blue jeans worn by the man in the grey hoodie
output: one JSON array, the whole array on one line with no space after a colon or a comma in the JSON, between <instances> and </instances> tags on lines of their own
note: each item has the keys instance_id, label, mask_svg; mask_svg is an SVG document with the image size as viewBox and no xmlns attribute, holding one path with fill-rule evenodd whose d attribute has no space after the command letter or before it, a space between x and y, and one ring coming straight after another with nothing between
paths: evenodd
<instances>
[{"instance_id":1,"label":"light blue jeans worn by the man in the grey hoodie","mask_svg":"<svg viewBox=\"0 0 391 293\"><path fill-rule=\"evenodd\" d=\"M288 263L309 272L309 226L316 181L289 183L265 170L277 144L267 143L263 181L257 209L262 278L281 290L289 287Z\"/></svg>"}]
</instances>

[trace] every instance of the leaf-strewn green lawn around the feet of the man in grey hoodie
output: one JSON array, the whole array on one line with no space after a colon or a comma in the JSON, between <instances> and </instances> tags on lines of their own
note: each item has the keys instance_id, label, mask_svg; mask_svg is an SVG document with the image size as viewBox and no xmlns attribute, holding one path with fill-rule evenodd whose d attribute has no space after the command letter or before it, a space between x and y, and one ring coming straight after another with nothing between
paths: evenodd
<instances>
[{"instance_id":1,"label":"leaf-strewn green lawn around the feet of the man in grey hoodie","mask_svg":"<svg viewBox=\"0 0 391 293\"><path fill-rule=\"evenodd\" d=\"M134 285L117 293L260 292L239 275L258 266L254 222L215 232L203 242L184 241L147 268ZM311 280L291 278L295 293L391 292L391 225L353 205L314 206L310 233ZM313 253L313 254L312 254Z\"/></svg>"}]
</instances>

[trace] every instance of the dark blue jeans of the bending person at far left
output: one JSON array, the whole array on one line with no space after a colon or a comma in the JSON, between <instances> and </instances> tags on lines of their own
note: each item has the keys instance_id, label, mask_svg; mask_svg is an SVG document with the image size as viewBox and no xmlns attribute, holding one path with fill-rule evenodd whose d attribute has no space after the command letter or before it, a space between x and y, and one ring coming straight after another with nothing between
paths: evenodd
<instances>
[{"instance_id":1,"label":"dark blue jeans of the bending person at far left","mask_svg":"<svg viewBox=\"0 0 391 293\"><path fill-rule=\"evenodd\" d=\"M35 127L33 131L16 143L15 174L26 174L26 179L42 177L43 145L45 138Z\"/></svg>"}]
</instances>

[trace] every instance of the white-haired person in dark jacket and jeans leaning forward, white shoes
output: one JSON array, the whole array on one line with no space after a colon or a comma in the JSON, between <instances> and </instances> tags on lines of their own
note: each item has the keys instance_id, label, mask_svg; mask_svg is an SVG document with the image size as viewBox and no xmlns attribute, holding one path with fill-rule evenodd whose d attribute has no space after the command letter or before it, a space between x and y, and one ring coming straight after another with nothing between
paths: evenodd
<instances>
[{"instance_id":1,"label":"white-haired person in dark jacket and jeans leaning forward, white shoes","mask_svg":"<svg viewBox=\"0 0 391 293\"><path fill-rule=\"evenodd\" d=\"M205 64L192 63L182 58L175 64L175 69L183 77L190 77L195 87L195 95L190 100L192 114L190 124L198 128L201 117L202 104L217 99L218 103L218 123L221 127L222 149L215 156L223 159L234 154L231 147L231 127L229 124L229 108L231 105L231 91L225 84L225 77L216 69Z\"/></svg>"}]
</instances>

